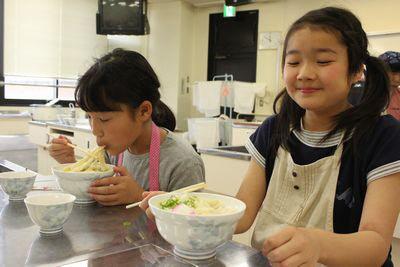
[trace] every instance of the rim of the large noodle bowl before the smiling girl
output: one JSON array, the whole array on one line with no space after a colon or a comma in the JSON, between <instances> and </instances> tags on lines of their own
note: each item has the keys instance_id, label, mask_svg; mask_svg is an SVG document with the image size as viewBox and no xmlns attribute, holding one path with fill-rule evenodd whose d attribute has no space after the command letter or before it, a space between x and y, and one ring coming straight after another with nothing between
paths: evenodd
<instances>
[{"instance_id":1,"label":"rim of the large noodle bowl before the smiling girl","mask_svg":"<svg viewBox=\"0 0 400 267\"><path fill-rule=\"evenodd\" d=\"M151 197L149 199L149 206L151 207L151 209L156 209L159 210L161 212L165 212L165 213L169 213L169 214L174 214L175 216L178 217L190 217L190 218L219 218L219 217L225 217L225 216L231 216L231 215L237 215L240 214L242 212L244 212L246 210L246 204L241 201L240 199L237 199L235 197L231 197L231 196L227 196L227 195L222 195L222 194L216 194L216 193L206 193L206 192L191 192L188 193L190 195L199 195L199 196L219 196L219 197L223 197L223 198L230 198L233 201L236 201L239 205L242 206L242 208L239 208L237 211L235 212L230 212L230 213L222 213L222 214L207 214L207 215L187 215L187 214L180 214L180 213L174 213L172 211L169 210L163 210L161 208L159 208L154 202L155 201L159 201L159 198L165 197L166 195L172 195L172 194L182 194L179 192L168 192L166 194L160 194L160 195L155 195L153 197ZM157 216L156 216L157 218Z\"/></svg>"}]
</instances>

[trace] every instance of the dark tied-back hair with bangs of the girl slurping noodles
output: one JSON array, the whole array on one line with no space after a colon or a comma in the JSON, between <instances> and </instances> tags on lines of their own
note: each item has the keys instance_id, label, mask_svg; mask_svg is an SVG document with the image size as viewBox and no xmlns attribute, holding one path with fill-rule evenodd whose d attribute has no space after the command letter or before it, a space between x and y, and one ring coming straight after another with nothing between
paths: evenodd
<instances>
[{"instance_id":1,"label":"dark tied-back hair with bangs of the girl slurping noodles","mask_svg":"<svg viewBox=\"0 0 400 267\"><path fill-rule=\"evenodd\" d=\"M154 123L173 131L175 116L160 100L159 87L157 75L141 54L117 48L96 59L79 79L75 100L86 112L120 111L121 104L134 110L147 100L153 106Z\"/></svg>"}]
</instances>

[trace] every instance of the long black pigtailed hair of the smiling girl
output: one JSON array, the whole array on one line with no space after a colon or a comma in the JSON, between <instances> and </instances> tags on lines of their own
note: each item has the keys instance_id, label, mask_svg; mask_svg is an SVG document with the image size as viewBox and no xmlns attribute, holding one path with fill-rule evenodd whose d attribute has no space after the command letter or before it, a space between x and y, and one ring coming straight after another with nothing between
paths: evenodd
<instances>
[{"instance_id":1,"label":"long black pigtailed hair of the smiling girl","mask_svg":"<svg viewBox=\"0 0 400 267\"><path fill-rule=\"evenodd\" d=\"M283 48L282 69L285 66L285 55L289 38L296 31L311 27L321 29L337 36L347 48L349 62L348 75L357 74L366 65L366 81L361 102L334 117L335 127L324 137L326 140L340 130L345 131L345 138L352 134L352 144L355 148L360 139L365 137L371 127L386 109L390 98L389 78L382 62L368 52L368 38L361 22L348 10L326 7L312 10L295 21L289 28ZM279 146L290 151L290 129L300 129L300 120L305 114L286 92L282 90L274 101L274 112L277 114L275 132L267 148L267 161L272 163Z\"/></svg>"}]
</instances>

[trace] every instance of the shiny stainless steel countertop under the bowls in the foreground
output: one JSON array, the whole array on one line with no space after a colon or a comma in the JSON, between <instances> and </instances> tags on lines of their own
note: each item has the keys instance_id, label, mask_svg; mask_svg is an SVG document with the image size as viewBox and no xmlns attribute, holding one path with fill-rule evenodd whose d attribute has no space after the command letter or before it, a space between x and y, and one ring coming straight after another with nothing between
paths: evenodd
<instances>
[{"instance_id":1,"label":"shiny stainless steel countertop under the bowls in the foreground","mask_svg":"<svg viewBox=\"0 0 400 267\"><path fill-rule=\"evenodd\" d=\"M74 206L56 237L39 236L23 202L0 190L0 266L269 266L253 248L230 241L215 258L187 261L172 253L140 208Z\"/></svg>"}]
</instances>

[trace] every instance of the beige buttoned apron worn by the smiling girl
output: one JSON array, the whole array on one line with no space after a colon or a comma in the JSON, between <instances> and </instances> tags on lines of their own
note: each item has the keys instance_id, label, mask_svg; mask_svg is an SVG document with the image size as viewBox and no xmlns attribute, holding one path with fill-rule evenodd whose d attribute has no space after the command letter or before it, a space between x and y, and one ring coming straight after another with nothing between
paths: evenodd
<instances>
[{"instance_id":1,"label":"beige buttoned apron worn by the smiling girl","mask_svg":"<svg viewBox=\"0 0 400 267\"><path fill-rule=\"evenodd\" d=\"M279 147L267 194L258 214L252 246L285 226L319 228L333 232L333 205L339 176L343 136L333 156L308 165L293 162Z\"/></svg>"}]
</instances>

